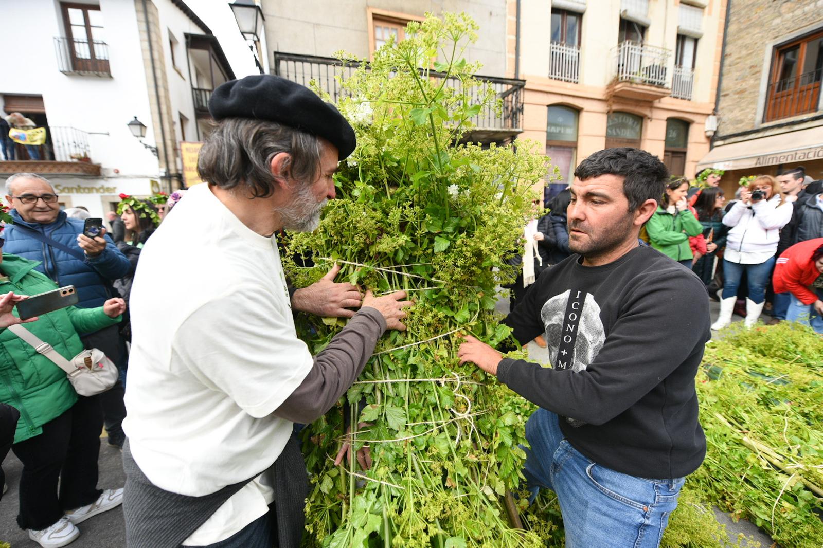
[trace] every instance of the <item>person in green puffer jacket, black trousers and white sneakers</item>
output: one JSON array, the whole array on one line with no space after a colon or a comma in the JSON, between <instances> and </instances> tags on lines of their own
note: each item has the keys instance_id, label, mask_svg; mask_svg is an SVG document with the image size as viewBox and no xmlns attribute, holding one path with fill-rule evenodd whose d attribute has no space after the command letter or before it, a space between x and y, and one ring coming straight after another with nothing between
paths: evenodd
<instances>
[{"instance_id":1,"label":"person in green puffer jacket, black trousers and white sneakers","mask_svg":"<svg viewBox=\"0 0 823 548\"><path fill-rule=\"evenodd\" d=\"M0 253L0 402L20 411L12 445L23 463L17 524L40 546L65 546L80 535L76 523L120 504L123 490L97 489L98 398L78 397L63 369L6 329L21 323L14 314L21 295L58 288L37 264ZM118 323L124 310L122 299L109 299L96 309L56 310L25 327L71 360L83 350L77 332Z\"/></svg>"}]
</instances>

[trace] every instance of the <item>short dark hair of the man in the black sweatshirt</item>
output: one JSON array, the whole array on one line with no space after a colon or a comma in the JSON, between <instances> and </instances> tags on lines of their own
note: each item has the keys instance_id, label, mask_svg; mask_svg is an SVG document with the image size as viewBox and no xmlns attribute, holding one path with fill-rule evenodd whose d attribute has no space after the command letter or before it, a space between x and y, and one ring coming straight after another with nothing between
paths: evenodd
<instances>
[{"instance_id":1,"label":"short dark hair of the man in the black sweatshirt","mask_svg":"<svg viewBox=\"0 0 823 548\"><path fill-rule=\"evenodd\" d=\"M574 177L581 181L600 175L623 177L623 193L629 200L629 211L637 210L649 199L660 203L669 180L668 170L657 156L630 146L597 151L574 170Z\"/></svg>"}]
</instances>

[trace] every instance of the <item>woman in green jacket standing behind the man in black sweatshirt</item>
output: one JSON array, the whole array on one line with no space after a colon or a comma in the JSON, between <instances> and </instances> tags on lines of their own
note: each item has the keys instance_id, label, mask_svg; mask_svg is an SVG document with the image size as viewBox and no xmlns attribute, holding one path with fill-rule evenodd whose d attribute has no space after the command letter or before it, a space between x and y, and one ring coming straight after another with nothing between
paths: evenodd
<instances>
[{"instance_id":1,"label":"woman in green jacket standing behind the man in black sweatshirt","mask_svg":"<svg viewBox=\"0 0 823 548\"><path fill-rule=\"evenodd\" d=\"M695 214L689 211L686 203L688 192L689 182L685 179L668 183L662 204L646 223L646 232L653 248L691 269L694 255L691 253L689 236L702 234L703 226L697 221Z\"/></svg>"}]
</instances>

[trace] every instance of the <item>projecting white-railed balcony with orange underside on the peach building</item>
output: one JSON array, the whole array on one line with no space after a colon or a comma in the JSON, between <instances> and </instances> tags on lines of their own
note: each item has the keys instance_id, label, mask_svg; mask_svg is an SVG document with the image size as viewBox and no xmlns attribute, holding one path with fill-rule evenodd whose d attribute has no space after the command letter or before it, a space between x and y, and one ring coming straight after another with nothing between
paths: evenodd
<instances>
[{"instance_id":1,"label":"projecting white-railed balcony with orange underside on the peach building","mask_svg":"<svg viewBox=\"0 0 823 548\"><path fill-rule=\"evenodd\" d=\"M671 51L625 41L611 50L614 57L612 95L630 100L658 100L671 93L667 67Z\"/></svg>"}]
</instances>

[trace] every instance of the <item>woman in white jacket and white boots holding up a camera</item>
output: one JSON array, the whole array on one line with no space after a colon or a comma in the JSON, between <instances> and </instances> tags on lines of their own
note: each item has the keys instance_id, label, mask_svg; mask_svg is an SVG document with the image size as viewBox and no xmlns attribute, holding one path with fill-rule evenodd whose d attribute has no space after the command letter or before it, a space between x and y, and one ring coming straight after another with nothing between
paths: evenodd
<instances>
[{"instance_id":1,"label":"woman in white jacket and white boots holding up a camera","mask_svg":"<svg viewBox=\"0 0 823 548\"><path fill-rule=\"evenodd\" d=\"M760 175L742 190L740 200L723 216L723 225L731 230L728 231L723 254L723 299L720 300L720 314L712 329L723 329L732 323L737 288L743 272L746 272L749 289L746 327L753 326L760 318L766 286L774 267L780 229L792 218L792 201L793 197L783 197L777 179L771 175Z\"/></svg>"}]
</instances>

